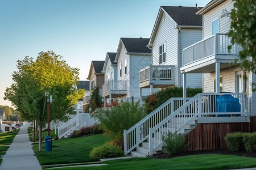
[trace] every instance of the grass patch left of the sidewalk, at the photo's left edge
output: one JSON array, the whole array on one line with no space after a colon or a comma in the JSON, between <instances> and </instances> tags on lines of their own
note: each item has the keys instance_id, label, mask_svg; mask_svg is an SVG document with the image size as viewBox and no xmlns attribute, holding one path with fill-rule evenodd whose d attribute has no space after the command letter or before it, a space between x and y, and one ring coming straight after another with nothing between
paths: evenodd
<instances>
[{"instance_id":1,"label":"grass patch left of the sidewalk, at the photo's left edge","mask_svg":"<svg viewBox=\"0 0 256 170\"><path fill-rule=\"evenodd\" d=\"M18 132L19 132L19 129L0 133L0 155L5 155L7 149L9 148L9 146L6 146L6 145L11 145L11 142L13 142L13 139L16 136L16 134L18 134ZM2 159L0 157L0 164L1 162L2 162Z\"/></svg>"}]
</instances>

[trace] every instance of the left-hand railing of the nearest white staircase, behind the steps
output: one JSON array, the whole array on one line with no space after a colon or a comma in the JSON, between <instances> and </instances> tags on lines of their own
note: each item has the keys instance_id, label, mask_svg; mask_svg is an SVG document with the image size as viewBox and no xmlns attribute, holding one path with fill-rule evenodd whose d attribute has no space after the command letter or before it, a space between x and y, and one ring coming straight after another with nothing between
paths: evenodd
<instances>
[{"instance_id":1,"label":"left-hand railing of the nearest white staircase, behind the steps","mask_svg":"<svg viewBox=\"0 0 256 170\"><path fill-rule=\"evenodd\" d=\"M187 100L189 99L190 98L187 98ZM171 98L155 109L155 111L144 117L133 127L128 130L124 130L123 137L125 155L146 140L148 138L149 129L158 125L166 117L170 116L172 112L181 107L181 105L183 105L183 101L184 99L181 97Z\"/></svg>"}]
</instances>

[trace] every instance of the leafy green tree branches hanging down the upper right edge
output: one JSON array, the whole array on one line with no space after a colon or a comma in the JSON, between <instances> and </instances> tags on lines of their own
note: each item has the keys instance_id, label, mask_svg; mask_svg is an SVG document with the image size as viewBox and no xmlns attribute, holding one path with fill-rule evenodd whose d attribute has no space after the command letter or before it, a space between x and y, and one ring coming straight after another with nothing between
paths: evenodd
<instances>
[{"instance_id":1,"label":"leafy green tree branches hanging down the upper right edge","mask_svg":"<svg viewBox=\"0 0 256 170\"><path fill-rule=\"evenodd\" d=\"M242 46L242 51L239 53L242 69L256 74L256 1L233 1L235 2L230 15L231 25L228 36L232 37L232 44L237 43Z\"/></svg>"}]
</instances>

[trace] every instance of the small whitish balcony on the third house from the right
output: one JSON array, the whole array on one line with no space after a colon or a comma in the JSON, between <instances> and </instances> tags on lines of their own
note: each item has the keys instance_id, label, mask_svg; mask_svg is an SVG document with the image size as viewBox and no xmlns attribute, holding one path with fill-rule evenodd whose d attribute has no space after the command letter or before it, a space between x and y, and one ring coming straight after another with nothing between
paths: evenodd
<instances>
[{"instance_id":1,"label":"small whitish balcony on the third house from the right","mask_svg":"<svg viewBox=\"0 0 256 170\"><path fill-rule=\"evenodd\" d=\"M119 97L127 94L127 81L125 80L110 80L102 85L102 97Z\"/></svg>"}]
</instances>

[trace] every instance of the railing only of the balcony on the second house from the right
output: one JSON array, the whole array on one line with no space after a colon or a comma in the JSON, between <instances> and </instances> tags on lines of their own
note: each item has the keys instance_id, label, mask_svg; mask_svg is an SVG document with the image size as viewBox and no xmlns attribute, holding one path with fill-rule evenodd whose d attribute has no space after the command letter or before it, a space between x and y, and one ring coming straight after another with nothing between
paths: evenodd
<instances>
[{"instance_id":1,"label":"railing only of the balcony on the second house from the right","mask_svg":"<svg viewBox=\"0 0 256 170\"><path fill-rule=\"evenodd\" d=\"M175 66L147 66L139 71L141 83L147 80L174 80Z\"/></svg>"}]
</instances>

